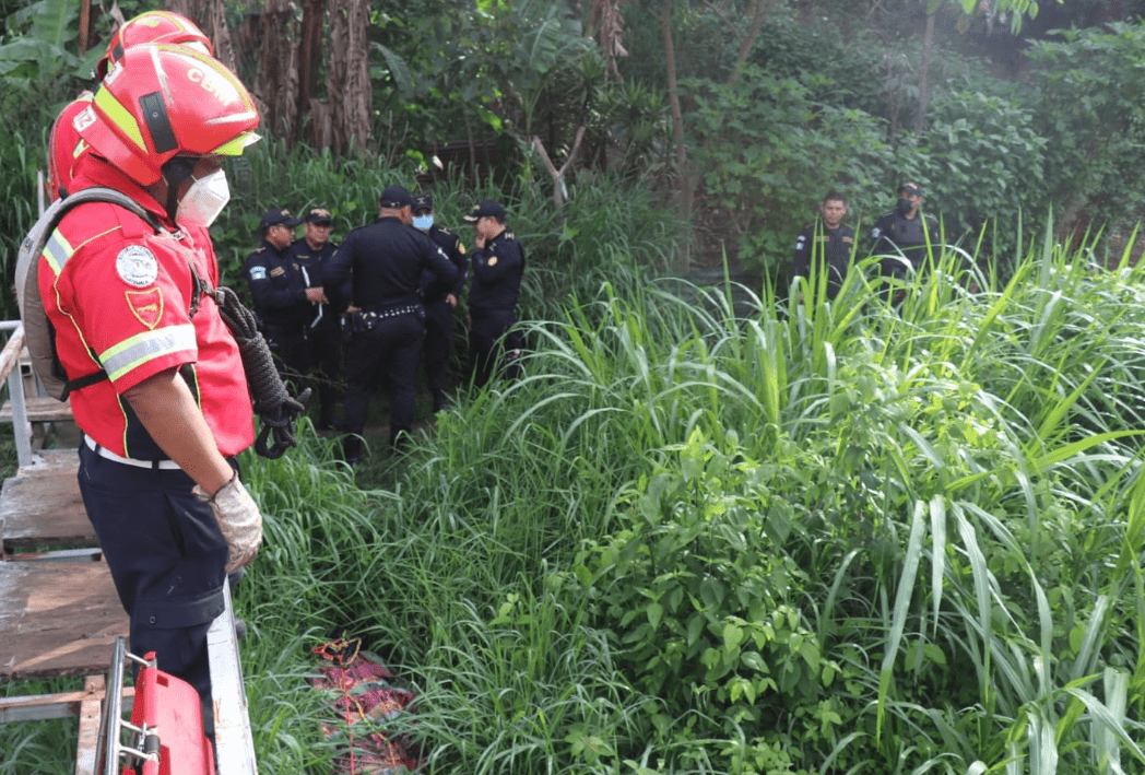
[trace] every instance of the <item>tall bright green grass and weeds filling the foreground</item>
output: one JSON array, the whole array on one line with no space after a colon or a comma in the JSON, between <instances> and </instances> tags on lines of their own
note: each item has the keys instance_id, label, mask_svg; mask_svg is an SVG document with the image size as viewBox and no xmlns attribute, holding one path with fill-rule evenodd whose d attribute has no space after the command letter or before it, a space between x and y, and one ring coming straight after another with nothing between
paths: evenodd
<instances>
[{"instance_id":1,"label":"tall bright green grass and weeds filling the foreground","mask_svg":"<svg viewBox=\"0 0 1145 775\"><path fill-rule=\"evenodd\" d=\"M368 489L308 429L244 460L262 768L331 767L311 649L349 635L429 773L1139 770L1145 270L1047 229L894 303L870 264L697 287L581 193L516 211L521 379Z\"/></svg>"}]
</instances>

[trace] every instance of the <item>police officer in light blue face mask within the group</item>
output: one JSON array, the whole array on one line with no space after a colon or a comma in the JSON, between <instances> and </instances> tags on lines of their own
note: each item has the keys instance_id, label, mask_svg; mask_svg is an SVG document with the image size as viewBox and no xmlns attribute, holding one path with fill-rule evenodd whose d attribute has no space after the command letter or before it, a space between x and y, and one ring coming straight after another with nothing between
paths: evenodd
<instances>
[{"instance_id":1,"label":"police officer in light blue face mask within the group","mask_svg":"<svg viewBox=\"0 0 1145 775\"><path fill-rule=\"evenodd\" d=\"M423 345L426 365L426 382L433 396L433 411L445 409L448 398L445 385L449 373L449 357L453 353L453 310L465 291L465 278L469 274L469 262L465 256L461 238L449 229L434 223L433 197L421 193L413 197L413 228L437 243L449 260L457 267L458 277L453 287L433 292L436 282L433 272L421 272L421 302L426 308L426 340Z\"/></svg>"}]
</instances>

